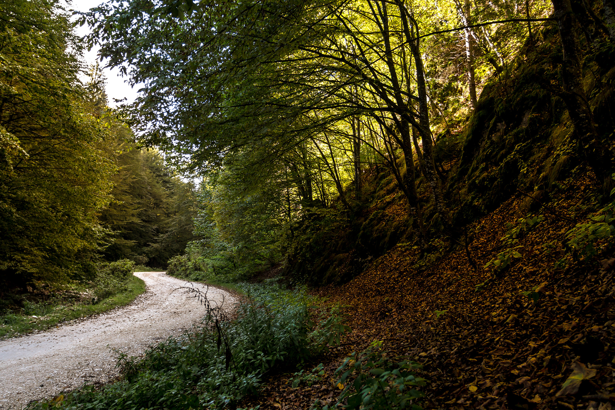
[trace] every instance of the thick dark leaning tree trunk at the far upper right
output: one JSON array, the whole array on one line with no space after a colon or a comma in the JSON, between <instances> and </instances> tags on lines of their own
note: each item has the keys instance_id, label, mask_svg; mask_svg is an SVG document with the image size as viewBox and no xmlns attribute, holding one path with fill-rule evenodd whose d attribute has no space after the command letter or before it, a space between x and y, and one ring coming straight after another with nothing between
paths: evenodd
<instances>
[{"instance_id":1,"label":"thick dark leaning tree trunk at the far upper right","mask_svg":"<svg viewBox=\"0 0 615 410\"><path fill-rule=\"evenodd\" d=\"M590 165L603 188L611 186L611 152L594 127L593 112L582 83L582 55L577 34L577 22L570 0L552 0L554 17L560 30L563 49L563 98L574 125L579 152Z\"/></svg>"}]
</instances>

